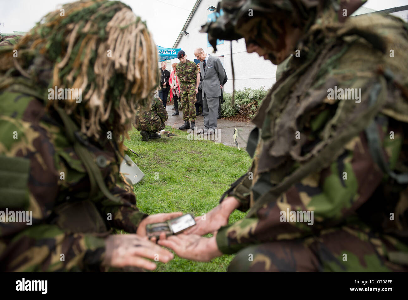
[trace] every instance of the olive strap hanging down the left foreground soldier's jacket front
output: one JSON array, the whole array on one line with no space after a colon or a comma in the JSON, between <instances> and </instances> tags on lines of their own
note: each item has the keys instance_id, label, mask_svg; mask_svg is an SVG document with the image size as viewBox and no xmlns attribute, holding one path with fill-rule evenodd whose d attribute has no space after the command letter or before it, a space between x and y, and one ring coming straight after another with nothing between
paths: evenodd
<instances>
[{"instance_id":1,"label":"olive strap hanging down the left foreground soldier's jacket front","mask_svg":"<svg viewBox=\"0 0 408 300\"><path fill-rule=\"evenodd\" d=\"M105 206L108 205L117 205L118 202L120 203L120 199L113 196L111 192L109 192L108 188L105 185L105 182L102 178L102 173L96 163L93 161L93 158L89 151L86 149L84 145L80 142L78 137L75 135L75 132L78 132L78 126L69 118L67 113L64 109L60 107L55 107L55 110L60 115L62 122L64 123L65 130L67 132L67 136L71 142L74 143L74 150L75 153L78 155L80 160L85 166L85 169L89 176L89 181L91 183L91 192L90 197L95 196L98 193L98 187L100 191L108 198L109 200L113 201L114 203L110 203L107 200L102 201L102 204Z\"/></svg>"}]
</instances>

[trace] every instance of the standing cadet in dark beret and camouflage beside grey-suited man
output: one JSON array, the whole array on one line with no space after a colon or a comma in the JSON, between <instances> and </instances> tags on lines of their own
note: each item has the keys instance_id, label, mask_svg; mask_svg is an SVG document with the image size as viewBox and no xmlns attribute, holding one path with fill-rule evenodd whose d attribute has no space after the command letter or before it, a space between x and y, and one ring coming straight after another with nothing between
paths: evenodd
<instances>
[{"instance_id":1,"label":"standing cadet in dark beret and camouflage beside grey-suited man","mask_svg":"<svg viewBox=\"0 0 408 300\"><path fill-rule=\"evenodd\" d=\"M186 53L181 50L177 53L180 62L176 66L176 76L180 82L180 102L183 109L184 124L179 129L195 128L195 102L200 84L200 72L197 64L187 59ZM191 123L191 124L190 124Z\"/></svg>"}]
</instances>

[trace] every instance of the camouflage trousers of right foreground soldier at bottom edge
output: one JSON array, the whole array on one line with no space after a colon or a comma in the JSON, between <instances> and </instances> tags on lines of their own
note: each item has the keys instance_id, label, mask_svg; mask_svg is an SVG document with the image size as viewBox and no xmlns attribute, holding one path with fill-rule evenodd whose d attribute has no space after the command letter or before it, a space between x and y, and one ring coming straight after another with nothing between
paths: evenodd
<instances>
[{"instance_id":1,"label":"camouflage trousers of right foreground soldier at bottom edge","mask_svg":"<svg viewBox=\"0 0 408 300\"><path fill-rule=\"evenodd\" d=\"M408 271L407 266L388 258L397 251L395 243L394 238L380 239L348 227L333 229L313 238L246 247L231 261L228 271Z\"/></svg>"}]
</instances>

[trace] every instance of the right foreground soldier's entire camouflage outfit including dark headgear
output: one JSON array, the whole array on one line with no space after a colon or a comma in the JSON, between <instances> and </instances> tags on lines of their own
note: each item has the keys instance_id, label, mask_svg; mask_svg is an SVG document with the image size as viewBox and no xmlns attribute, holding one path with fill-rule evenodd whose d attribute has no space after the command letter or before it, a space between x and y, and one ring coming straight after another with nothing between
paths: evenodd
<instances>
[{"instance_id":1,"label":"right foreground soldier's entire camouflage outfit including dark headgear","mask_svg":"<svg viewBox=\"0 0 408 300\"><path fill-rule=\"evenodd\" d=\"M262 49L286 47L284 18L303 29L252 121L252 166L226 192L249 210L217 233L238 252L229 271L408 270L408 27L344 17L363 2L229 0L203 28L214 48L245 36ZM290 211L313 211L313 224Z\"/></svg>"}]
</instances>

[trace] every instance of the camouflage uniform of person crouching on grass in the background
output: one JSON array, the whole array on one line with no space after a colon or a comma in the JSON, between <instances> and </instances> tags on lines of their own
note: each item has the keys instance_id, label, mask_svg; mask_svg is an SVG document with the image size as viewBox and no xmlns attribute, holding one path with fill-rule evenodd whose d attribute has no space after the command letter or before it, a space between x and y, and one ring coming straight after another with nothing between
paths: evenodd
<instances>
[{"instance_id":1,"label":"camouflage uniform of person crouching on grass in the background","mask_svg":"<svg viewBox=\"0 0 408 300\"><path fill-rule=\"evenodd\" d=\"M153 97L150 111L146 111L136 116L135 127L138 131L155 133L164 129L164 122L169 118L169 114L163 106L160 97Z\"/></svg>"}]
</instances>

